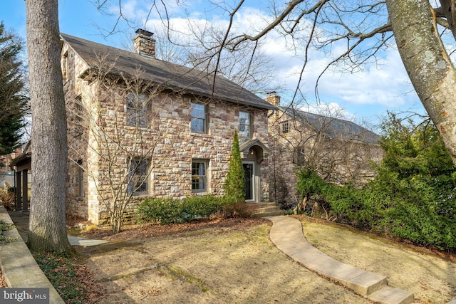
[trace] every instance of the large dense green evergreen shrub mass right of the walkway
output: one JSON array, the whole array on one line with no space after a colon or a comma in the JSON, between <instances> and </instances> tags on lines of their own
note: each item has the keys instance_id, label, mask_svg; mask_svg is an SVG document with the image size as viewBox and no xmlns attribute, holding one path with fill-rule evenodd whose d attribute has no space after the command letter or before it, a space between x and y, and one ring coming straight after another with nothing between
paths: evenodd
<instances>
[{"instance_id":1,"label":"large dense green evergreen shrub mass right of the walkway","mask_svg":"<svg viewBox=\"0 0 456 304\"><path fill-rule=\"evenodd\" d=\"M390 115L383 129L383 161L365 187L338 187L303 170L301 196L325 201L332 218L343 224L455 252L456 167L436 128L405 125Z\"/></svg>"}]
</instances>

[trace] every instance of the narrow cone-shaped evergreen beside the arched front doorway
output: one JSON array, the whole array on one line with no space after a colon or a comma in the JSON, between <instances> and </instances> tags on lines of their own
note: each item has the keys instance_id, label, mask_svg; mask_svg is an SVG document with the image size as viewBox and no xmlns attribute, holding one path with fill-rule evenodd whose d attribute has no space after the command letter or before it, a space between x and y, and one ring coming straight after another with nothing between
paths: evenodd
<instances>
[{"instance_id":1,"label":"narrow cone-shaped evergreen beside the arched front doorway","mask_svg":"<svg viewBox=\"0 0 456 304\"><path fill-rule=\"evenodd\" d=\"M227 180L224 184L225 196L237 203L245 201L245 176L242 167L241 152L239 151L239 136L234 131L231 159L229 160Z\"/></svg>"}]
</instances>

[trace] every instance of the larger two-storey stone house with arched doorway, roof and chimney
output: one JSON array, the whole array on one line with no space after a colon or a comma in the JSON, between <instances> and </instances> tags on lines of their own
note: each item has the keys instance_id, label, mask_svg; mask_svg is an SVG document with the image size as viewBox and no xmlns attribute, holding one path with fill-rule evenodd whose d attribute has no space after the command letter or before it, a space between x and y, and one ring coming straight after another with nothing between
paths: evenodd
<instances>
[{"instance_id":1,"label":"larger two-storey stone house with arched doorway, roof and chimney","mask_svg":"<svg viewBox=\"0 0 456 304\"><path fill-rule=\"evenodd\" d=\"M135 52L61 34L68 214L107 224L127 197L133 214L146 197L222 195L234 130L246 200L269 201L276 107L221 75L158 60L152 33L137 33Z\"/></svg>"}]
</instances>

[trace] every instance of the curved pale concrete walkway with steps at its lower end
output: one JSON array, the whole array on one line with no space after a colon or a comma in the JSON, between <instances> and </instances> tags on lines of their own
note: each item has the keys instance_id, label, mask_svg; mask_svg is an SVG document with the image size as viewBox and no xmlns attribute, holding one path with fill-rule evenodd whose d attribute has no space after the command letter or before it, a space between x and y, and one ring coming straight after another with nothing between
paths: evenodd
<instances>
[{"instance_id":1,"label":"curved pale concrete walkway with steps at its lower end","mask_svg":"<svg viewBox=\"0 0 456 304\"><path fill-rule=\"evenodd\" d=\"M316 273L338 281L354 292L378 303L413 303L413 293L387 285L386 277L337 261L318 251L302 232L301 221L289 216L268 216L269 237L281 251Z\"/></svg>"}]
</instances>

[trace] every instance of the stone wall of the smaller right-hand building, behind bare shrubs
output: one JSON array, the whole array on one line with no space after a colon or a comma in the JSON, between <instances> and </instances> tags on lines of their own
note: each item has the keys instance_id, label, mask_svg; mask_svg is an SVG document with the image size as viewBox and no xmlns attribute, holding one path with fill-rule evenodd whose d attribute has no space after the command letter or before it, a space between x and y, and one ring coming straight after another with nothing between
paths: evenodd
<instances>
[{"instance_id":1,"label":"stone wall of the smaller right-hand building, behind bare shrubs","mask_svg":"<svg viewBox=\"0 0 456 304\"><path fill-rule=\"evenodd\" d=\"M269 102L274 103L274 99ZM289 123L285 134L283 122ZM379 145L329 138L280 110L269 117L269 147L269 196L282 206L291 206L300 199L296 189L299 169L316 169L328 182L361 185L375 174L371 161L380 162L383 156Z\"/></svg>"}]
</instances>

